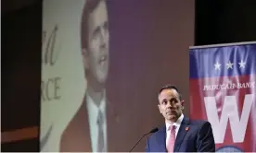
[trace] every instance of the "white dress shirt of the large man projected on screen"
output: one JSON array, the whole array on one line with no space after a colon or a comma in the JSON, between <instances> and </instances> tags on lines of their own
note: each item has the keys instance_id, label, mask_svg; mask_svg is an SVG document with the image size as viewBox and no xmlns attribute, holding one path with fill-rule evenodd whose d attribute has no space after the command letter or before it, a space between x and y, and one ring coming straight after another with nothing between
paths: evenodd
<instances>
[{"instance_id":1,"label":"white dress shirt of the large man projected on screen","mask_svg":"<svg viewBox=\"0 0 256 153\"><path fill-rule=\"evenodd\" d=\"M90 135L91 135L91 142L92 142L92 152L96 152L97 150L97 138L98 138L98 125L96 123L97 121L97 115L98 111L100 110L103 114L103 133L104 133L104 147L107 151L107 115L106 115L106 94L104 92L103 99L100 101L99 107L96 106L93 99L86 95L86 101L87 101L87 111L88 111L88 117L89 117L89 125L90 125Z\"/></svg>"}]
</instances>

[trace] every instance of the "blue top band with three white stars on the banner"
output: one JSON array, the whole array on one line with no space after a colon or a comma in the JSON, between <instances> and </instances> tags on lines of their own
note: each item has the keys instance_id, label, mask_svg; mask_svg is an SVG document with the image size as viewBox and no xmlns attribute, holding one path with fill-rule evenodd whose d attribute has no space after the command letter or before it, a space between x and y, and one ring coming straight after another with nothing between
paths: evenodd
<instances>
[{"instance_id":1,"label":"blue top band with three white stars on the banner","mask_svg":"<svg viewBox=\"0 0 256 153\"><path fill-rule=\"evenodd\" d=\"M190 78L256 74L256 44L191 49Z\"/></svg>"}]
</instances>

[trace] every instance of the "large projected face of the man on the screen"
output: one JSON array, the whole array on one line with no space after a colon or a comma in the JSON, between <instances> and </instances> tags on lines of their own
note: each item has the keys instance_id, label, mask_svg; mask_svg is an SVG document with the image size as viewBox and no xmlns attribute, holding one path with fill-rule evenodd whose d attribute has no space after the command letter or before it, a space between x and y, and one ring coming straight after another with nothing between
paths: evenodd
<instances>
[{"instance_id":1,"label":"large projected face of the man on the screen","mask_svg":"<svg viewBox=\"0 0 256 153\"><path fill-rule=\"evenodd\" d=\"M89 15L88 58L89 73L98 83L105 83L109 71L109 28L105 1L100 1Z\"/></svg>"}]
</instances>

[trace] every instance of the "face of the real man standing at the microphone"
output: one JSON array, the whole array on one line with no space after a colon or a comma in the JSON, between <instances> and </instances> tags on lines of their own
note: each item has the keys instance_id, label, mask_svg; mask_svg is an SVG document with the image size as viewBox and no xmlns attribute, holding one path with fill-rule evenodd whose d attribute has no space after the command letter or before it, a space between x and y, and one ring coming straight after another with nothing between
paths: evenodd
<instances>
[{"instance_id":1,"label":"face of the real man standing at the microphone","mask_svg":"<svg viewBox=\"0 0 256 153\"><path fill-rule=\"evenodd\" d=\"M184 101L175 89L163 89L159 95L159 109L166 121L176 122L182 114Z\"/></svg>"}]
</instances>

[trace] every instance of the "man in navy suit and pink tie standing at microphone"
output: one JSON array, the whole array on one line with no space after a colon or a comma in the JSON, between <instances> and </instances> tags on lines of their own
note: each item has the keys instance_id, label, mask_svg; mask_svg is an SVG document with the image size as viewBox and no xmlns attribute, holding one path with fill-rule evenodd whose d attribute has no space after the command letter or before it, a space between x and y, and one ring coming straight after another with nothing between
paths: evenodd
<instances>
[{"instance_id":1,"label":"man in navy suit and pink tie standing at microphone","mask_svg":"<svg viewBox=\"0 0 256 153\"><path fill-rule=\"evenodd\" d=\"M175 86L160 88L158 106L165 125L147 139L146 152L215 151L211 124L186 118L184 103Z\"/></svg>"}]
</instances>

